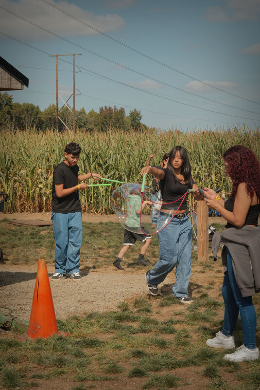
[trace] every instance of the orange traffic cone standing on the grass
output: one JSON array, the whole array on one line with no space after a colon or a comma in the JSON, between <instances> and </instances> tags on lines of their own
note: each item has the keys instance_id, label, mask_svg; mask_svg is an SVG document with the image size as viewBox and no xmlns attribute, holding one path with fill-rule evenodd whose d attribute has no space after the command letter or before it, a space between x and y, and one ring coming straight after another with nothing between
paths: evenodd
<instances>
[{"instance_id":1,"label":"orange traffic cone standing on the grass","mask_svg":"<svg viewBox=\"0 0 260 390\"><path fill-rule=\"evenodd\" d=\"M48 338L53 334L69 335L58 332L47 266L45 259L41 258L38 260L28 338Z\"/></svg>"}]
</instances>

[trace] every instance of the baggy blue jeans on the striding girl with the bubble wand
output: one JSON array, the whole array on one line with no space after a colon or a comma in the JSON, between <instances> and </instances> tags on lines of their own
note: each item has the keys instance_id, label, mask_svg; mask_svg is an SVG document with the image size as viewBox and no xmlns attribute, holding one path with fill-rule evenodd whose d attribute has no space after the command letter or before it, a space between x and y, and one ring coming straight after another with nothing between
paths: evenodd
<instances>
[{"instance_id":1,"label":"baggy blue jeans on the striding girl with the bubble wand","mask_svg":"<svg viewBox=\"0 0 260 390\"><path fill-rule=\"evenodd\" d=\"M159 212L158 226L163 226L167 216ZM168 213L167 213L168 214ZM157 286L176 265L176 282L173 286L173 296L176 298L188 295L188 285L191 278L191 238L192 227L189 215L172 221L158 232L159 260L154 268L146 274L149 284Z\"/></svg>"}]
</instances>

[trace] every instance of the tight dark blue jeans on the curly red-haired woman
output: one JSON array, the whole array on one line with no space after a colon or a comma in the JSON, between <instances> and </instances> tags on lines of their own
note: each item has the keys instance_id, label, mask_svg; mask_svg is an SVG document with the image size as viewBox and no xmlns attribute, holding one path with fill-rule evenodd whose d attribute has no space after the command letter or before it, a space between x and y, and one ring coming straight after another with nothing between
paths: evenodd
<instances>
[{"instance_id":1,"label":"tight dark blue jeans on the curly red-haired woman","mask_svg":"<svg viewBox=\"0 0 260 390\"><path fill-rule=\"evenodd\" d=\"M256 348L257 316L252 297L242 297L237 285L232 267L232 259L227 251L227 273L224 276L222 296L225 303L224 325L222 333L226 336L233 334L238 314L240 313L244 346L249 349Z\"/></svg>"}]
</instances>

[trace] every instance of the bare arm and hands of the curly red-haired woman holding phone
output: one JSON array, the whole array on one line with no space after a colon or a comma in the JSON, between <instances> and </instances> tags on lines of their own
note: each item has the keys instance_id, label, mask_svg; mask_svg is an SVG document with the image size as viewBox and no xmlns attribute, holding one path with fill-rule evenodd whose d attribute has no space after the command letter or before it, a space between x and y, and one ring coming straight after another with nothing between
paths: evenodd
<instances>
[{"instance_id":1,"label":"bare arm and hands of the curly red-haired woman holding phone","mask_svg":"<svg viewBox=\"0 0 260 390\"><path fill-rule=\"evenodd\" d=\"M205 198L209 208L213 208L218 211L222 217L224 217L225 220L232 225L242 227L245 223L246 215L251 204L251 197L246 192L245 183L240 183L238 186L233 212L226 210L223 201L220 200L221 198L218 201L216 199L213 200Z\"/></svg>"}]
</instances>

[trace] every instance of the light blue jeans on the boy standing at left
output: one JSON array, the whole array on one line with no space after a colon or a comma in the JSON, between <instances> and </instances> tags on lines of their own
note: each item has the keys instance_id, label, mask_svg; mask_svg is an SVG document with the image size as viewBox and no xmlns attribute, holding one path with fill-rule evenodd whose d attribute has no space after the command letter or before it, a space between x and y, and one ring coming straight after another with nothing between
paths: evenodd
<instances>
[{"instance_id":1,"label":"light blue jeans on the boy standing at left","mask_svg":"<svg viewBox=\"0 0 260 390\"><path fill-rule=\"evenodd\" d=\"M82 245L82 214L52 212L55 240L55 272L71 275L79 272L80 247Z\"/></svg>"}]
</instances>

